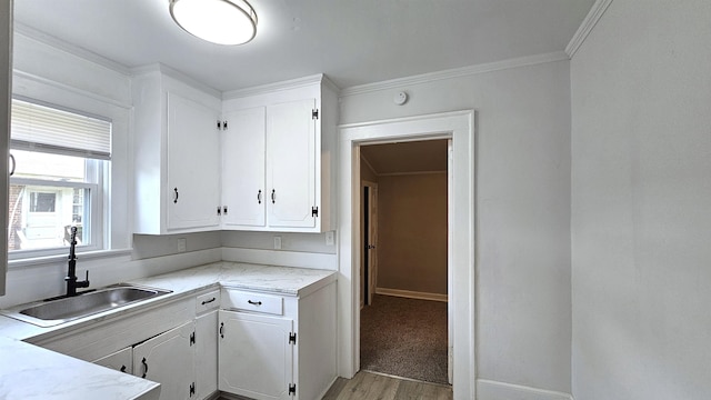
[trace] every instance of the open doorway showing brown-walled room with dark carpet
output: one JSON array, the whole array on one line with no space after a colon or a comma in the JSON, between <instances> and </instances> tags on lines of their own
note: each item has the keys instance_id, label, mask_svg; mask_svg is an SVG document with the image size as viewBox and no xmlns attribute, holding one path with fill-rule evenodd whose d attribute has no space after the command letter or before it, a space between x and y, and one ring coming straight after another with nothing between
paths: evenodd
<instances>
[{"instance_id":1,"label":"open doorway showing brown-walled room with dark carpet","mask_svg":"<svg viewBox=\"0 0 711 400\"><path fill-rule=\"evenodd\" d=\"M360 150L361 369L448 384L449 141Z\"/></svg>"}]
</instances>

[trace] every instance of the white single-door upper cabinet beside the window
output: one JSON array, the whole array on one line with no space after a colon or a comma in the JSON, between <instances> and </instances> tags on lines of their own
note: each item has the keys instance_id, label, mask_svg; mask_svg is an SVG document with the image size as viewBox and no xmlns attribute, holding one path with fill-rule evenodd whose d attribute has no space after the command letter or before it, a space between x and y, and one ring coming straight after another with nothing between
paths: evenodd
<instances>
[{"instance_id":1,"label":"white single-door upper cabinet beside the window","mask_svg":"<svg viewBox=\"0 0 711 400\"><path fill-rule=\"evenodd\" d=\"M136 233L219 229L220 99L162 70L133 80Z\"/></svg>"}]
</instances>

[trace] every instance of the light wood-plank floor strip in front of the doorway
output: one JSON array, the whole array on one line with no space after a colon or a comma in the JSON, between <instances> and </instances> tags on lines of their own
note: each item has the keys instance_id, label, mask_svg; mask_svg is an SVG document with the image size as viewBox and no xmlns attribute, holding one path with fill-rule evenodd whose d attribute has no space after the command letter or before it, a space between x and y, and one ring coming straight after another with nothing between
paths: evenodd
<instances>
[{"instance_id":1,"label":"light wood-plank floor strip in front of the doorway","mask_svg":"<svg viewBox=\"0 0 711 400\"><path fill-rule=\"evenodd\" d=\"M452 388L360 371L338 378L323 400L451 400Z\"/></svg>"}]
</instances>

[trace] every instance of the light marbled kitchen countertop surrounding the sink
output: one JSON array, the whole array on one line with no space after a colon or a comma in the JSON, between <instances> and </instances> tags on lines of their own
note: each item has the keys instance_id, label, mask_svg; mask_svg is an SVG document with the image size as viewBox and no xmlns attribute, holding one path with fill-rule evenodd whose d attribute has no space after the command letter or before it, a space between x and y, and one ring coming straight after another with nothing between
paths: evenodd
<instances>
[{"instance_id":1,"label":"light marbled kitchen countertop surrounding the sink","mask_svg":"<svg viewBox=\"0 0 711 400\"><path fill-rule=\"evenodd\" d=\"M334 280L333 271L223 261L129 281L171 290L172 293L56 327L41 328L0 316L0 399L158 399L157 383L24 341L119 318L210 287L303 297Z\"/></svg>"}]
</instances>

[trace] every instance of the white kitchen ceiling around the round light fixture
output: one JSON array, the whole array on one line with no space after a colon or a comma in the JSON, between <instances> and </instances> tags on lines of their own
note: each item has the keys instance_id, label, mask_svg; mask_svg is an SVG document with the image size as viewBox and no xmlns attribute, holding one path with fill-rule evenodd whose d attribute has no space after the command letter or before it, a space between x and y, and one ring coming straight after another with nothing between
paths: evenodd
<instances>
[{"instance_id":1,"label":"white kitchen ceiling around the round light fixture","mask_svg":"<svg viewBox=\"0 0 711 400\"><path fill-rule=\"evenodd\" d=\"M251 0L253 41L182 31L168 0L18 0L16 23L219 91L326 73L340 88L564 50L594 0Z\"/></svg>"}]
</instances>

